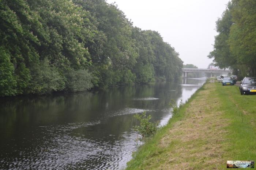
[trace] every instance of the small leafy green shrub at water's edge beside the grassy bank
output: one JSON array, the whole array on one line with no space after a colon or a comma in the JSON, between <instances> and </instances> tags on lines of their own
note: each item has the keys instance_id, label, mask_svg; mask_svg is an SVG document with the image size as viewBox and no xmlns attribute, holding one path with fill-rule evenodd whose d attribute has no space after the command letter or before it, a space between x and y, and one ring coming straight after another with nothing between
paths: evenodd
<instances>
[{"instance_id":1,"label":"small leafy green shrub at water's edge beside the grassy bank","mask_svg":"<svg viewBox=\"0 0 256 170\"><path fill-rule=\"evenodd\" d=\"M149 122L151 115L146 116L146 111L142 114L135 114L134 117L140 121L140 126L134 126L134 130L137 131L142 138L147 138L155 134L158 129L158 122Z\"/></svg>"}]
</instances>

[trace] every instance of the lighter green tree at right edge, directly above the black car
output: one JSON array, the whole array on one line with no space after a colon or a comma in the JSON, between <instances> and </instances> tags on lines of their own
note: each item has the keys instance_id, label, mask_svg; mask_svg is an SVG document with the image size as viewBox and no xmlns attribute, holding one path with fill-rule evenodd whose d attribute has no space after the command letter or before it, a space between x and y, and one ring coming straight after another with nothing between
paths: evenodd
<instances>
[{"instance_id":1,"label":"lighter green tree at right edge, directly above the black car","mask_svg":"<svg viewBox=\"0 0 256 170\"><path fill-rule=\"evenodd\" d=\"M229 46L239 64L249 68L251 76L256 75L256 1L233 0Z\"/></svg>"}]
</instances>

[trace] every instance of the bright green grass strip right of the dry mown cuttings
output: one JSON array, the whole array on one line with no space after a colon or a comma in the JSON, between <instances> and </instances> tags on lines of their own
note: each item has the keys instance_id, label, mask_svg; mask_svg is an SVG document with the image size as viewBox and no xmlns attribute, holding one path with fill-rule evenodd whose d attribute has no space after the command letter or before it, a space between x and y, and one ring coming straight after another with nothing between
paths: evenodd
<instances>
[{"instance_id":1,"label":"bright green grass strip right of the dry mown cuttings","mask_svg":"<svg viewBox=\"0 0 256 170\"><path fill-rule=\"evenodd\" d=\"M256 95L240 95L237 86L216 86L224 110L229 118L229 132L225 157L230 160L256 159Z\"/></svg>"}]
</instances>

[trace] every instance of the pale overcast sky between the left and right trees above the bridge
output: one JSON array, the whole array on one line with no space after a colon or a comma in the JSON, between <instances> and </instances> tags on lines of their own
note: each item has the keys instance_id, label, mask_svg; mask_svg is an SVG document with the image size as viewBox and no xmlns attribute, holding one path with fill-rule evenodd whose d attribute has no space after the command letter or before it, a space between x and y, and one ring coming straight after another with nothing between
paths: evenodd
<instances>
[{"instance_id":1,"label":"pale overcast sky between the left and right trees above the bridge","mask_svg":"<svg viewBox=\"0 0 256 170\"><path fill-rule=\"evenodd\" d=\"M158 31L184 64L207 68L214 44L215 21L229 0L107 0L118 5L133 25Z\"/></svg>"}]
</instances>

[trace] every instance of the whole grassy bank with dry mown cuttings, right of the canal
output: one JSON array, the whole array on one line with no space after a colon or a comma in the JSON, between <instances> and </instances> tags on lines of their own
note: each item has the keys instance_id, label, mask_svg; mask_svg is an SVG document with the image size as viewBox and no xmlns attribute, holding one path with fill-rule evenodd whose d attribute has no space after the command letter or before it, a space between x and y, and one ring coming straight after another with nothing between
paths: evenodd
<instances>
[{"instance_id":1,"label":"whole grassy bank with dry mown cuttings, right of the canal","mask_svg":"<svg viewBox=\"0 0 256 170\"><path fill-rule=\"evenodd\" d=\"M226 169L256 160L256 95L206 83L146 142L127 169Z\"/></svg>"}]
</instances>

